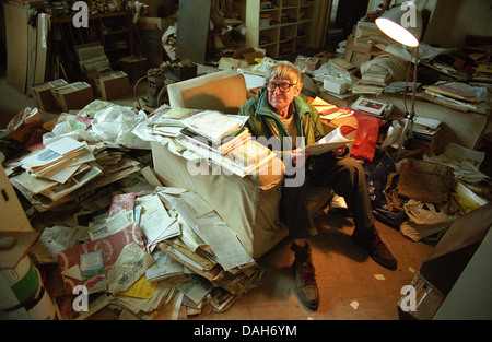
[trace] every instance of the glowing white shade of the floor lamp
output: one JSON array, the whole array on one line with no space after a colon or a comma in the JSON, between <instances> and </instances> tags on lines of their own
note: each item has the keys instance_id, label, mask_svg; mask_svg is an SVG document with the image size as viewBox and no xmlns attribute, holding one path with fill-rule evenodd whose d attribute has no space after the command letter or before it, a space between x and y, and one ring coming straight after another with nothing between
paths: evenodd
<instances>
[{"instance_id":1,"label":"glowing white shade of the floor lamp","mask_svg":"<svg viewBox=\"0 0 492 342\"><path fill-rule=\"evenodd\" d=\"M419 46L422 35L422 13L410 2L386 11L376 19L376 25L387 36L410 47Z\"/></svg>"}]
</instances>

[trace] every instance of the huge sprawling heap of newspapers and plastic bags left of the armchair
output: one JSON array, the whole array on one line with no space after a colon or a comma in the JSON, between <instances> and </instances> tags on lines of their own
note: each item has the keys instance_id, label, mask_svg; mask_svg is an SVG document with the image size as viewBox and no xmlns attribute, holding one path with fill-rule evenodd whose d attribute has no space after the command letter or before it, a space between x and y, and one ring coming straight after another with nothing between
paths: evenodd
<instances>
[{"instance_id":1,"label":"huge sprawling heap of newspapers and plastic bags left of the armchair","mask_svg":"<svg viewBox=\"0 0 492 342\"><path fill-rule=\"evenodd\" d=\"M62 278L65 296L55 296L60 319L105 307L151 318L173 298L188 316L224 311L261 279L262 269L201 197L163 187L144 158L127 153L144 145L127 129L141 117L95 101L60 116L42 142L4 163L42 233L28 252ZM63 311L81 288L89 311Z\"/></svg>"}]
</instances>

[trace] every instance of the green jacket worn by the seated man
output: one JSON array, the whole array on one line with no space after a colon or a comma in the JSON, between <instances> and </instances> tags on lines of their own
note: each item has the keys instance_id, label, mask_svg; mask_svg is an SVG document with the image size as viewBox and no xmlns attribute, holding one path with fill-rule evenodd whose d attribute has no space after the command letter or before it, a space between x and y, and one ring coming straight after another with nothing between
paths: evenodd
<instances>
[{"instance_id":1,"label":"green jacket worn by the seated man","mask_svg":"<svg viewBox=\"0 0 492 342\"><path fill-rule=\"evenodd\" d=\"M319 114L309 101L302 94L296 96L294 104L294 120L297 123L298 135L304 138L304 144L314 144L325 137ZM273 107L268 102L268 92L260 90L254 97L246 101L239 109L239 115L247 115L249 119L246 125L256 138L280 137L282 151L288 152L292 146L283 145L283 138L288 137L286 128L277 116ZM278 132L276 134L276 131Z\"/></svg>"}]
</instances>

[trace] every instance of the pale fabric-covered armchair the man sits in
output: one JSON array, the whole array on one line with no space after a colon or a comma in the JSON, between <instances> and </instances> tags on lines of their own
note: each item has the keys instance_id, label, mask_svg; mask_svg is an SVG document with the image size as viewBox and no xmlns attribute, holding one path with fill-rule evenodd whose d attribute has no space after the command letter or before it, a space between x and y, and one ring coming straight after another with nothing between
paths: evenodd
<instances>
[{"instance_id":1,"label":"pale fabric-covered armchair the man sits in","mask_svg":"<svg viewBox=\"0 0 492 342\"><path fill-rule=\"evenodd\" d=\"M174 108L213 109L237 114L247 99L244 76L235 70L220 71L168 85ZM200 194L237 234L248 253L258 259L289 234L280 221L279 204L284 165L273 158L268 172L248 175L191 175L188 161L167 146L152 143L155 172L165 186L179 187ZM313 189L309 211L316 212L329 200L329 189ZM313 200L311 201L311 199Z\"/></svg>"}]
</instances>

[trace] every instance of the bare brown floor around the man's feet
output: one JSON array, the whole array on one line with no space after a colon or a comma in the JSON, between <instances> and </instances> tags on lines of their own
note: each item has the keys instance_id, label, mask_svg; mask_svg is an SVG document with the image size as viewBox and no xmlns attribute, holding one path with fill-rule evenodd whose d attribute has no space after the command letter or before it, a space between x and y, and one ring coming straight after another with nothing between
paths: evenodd
<instances>
[{"instance_id":1,"label":"bare brown floor around the man's feet","mask_svg":"<svg viewBox=\"0 0 492 342\"><path fill-rule=\"evenodd\" d=\"M304 308L293 292L291 241L283 240L259 263L265 268L259 286L246 293L224 312L202 312L197 320L397 320L400 290L409 285L433 246L413 243L379 222L376 227L398 260L390 271L374 262L354 245L351 219L328 213L315 219L318 235L309 243L320 292L316 312ZM376 279L383 279L378 280ZM383 276L383 278L382 278ZM358 306L352 305L358 303ZM169 319L169 303L153 319ZM184 318L184 314L180 316Z\"/></svg>"}]
</instances>

